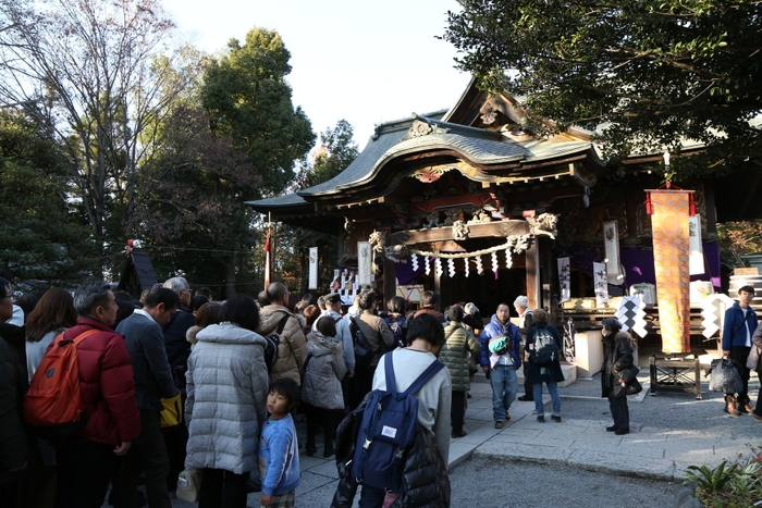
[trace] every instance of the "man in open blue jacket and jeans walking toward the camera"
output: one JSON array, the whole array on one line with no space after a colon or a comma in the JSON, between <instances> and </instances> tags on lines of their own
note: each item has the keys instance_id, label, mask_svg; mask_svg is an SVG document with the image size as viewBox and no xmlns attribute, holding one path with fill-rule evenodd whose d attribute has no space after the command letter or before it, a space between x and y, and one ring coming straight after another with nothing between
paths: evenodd
<instances>
[{"instance_id":1,"label":"man in open blue jacket and jeans walking toward the camera","mask_svg":"<svg viewBox=\"0 0 762 508\"><path fill-rule=\"evenodd\" d=\"M482 330L479 364L492 385L492 417L495 429L503 429L503 418L511 420L511 405L518 392L516 370L521 367L521 334L511 322L507 303L500 303Z\"/></svg>"}]
</instances>

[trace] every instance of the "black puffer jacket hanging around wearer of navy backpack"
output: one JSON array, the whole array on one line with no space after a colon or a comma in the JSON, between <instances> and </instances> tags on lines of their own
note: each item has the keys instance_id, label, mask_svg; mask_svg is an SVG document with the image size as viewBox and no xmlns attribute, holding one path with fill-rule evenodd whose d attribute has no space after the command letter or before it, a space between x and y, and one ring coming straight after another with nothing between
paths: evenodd
<instances>
[{"instance_id":1,"label":"black puffer jacket hanging around wearer of navy backpack","mask_svg":"<svg viewBox=\"0 0 762 508\"><path fill-rule=\"evenodd\" d=\"M357 494L358 485L352 478L351 460L355 455L355 443L366 400L342 420L336 431L339 484L331 508L351 508ZM447 464L442 460L433 433L420 423L416 424L413 446L403 454L402 468L404 488L392 504L392 508L450 507Z\"/></svg>"}]
</instances>

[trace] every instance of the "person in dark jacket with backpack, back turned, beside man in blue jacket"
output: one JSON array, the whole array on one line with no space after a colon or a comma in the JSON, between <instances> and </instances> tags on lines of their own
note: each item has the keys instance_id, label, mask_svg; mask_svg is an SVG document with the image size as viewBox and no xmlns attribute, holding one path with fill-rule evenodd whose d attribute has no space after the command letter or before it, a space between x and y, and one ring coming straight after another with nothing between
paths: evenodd
<instances>
[{"instance_id":1,"label":"person in dark jacket with backpack, back turned, beside man in blue jacket","mask_svg":"<svg viewBox=\"0 0 762 508\"><path fill-rule=\"evenodd\" d=\"M564 381L564 373L561 370L561 355L556 355L551 365L538 365L536 361L536 356L532 354L537 351L537 336L542 331L545 330L553 337L555 342L557 351L563 348L563 343L561 340L561 335L555 326L548 324L548 312L542 309L534 311L534 326L527 331L527 351L529 351L529 361L526 369L527 376L529 377L529 384L532 385L534 409L537 410L537 421L545 421L545 408L542 404L542 383L548 386L548 393L551 395L551 400L553 400L553 414L551 419L554 422L561 422L561 396L558 395L558 383Z\"/></svg>"}]
</instances>

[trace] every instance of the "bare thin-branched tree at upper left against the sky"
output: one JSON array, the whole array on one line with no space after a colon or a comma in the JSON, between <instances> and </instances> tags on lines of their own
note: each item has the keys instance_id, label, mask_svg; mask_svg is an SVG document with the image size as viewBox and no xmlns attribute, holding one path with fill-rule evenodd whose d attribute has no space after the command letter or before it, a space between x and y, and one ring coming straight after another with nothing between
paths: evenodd
<instances>
[{"instance_id":1,"label":"bare thin-branched tree at upper left against the sky","mask_svg":"<svg viewBox=\"0 0 762 508\"><path fill-rule=\"evenodd\" d=\"M121 250L151 157L145 128L182 89L153 64L172 53L173 23L158 0L0 0L0 101L44 123L91 236L105 255Z\"/></svg>"}]
</instances>

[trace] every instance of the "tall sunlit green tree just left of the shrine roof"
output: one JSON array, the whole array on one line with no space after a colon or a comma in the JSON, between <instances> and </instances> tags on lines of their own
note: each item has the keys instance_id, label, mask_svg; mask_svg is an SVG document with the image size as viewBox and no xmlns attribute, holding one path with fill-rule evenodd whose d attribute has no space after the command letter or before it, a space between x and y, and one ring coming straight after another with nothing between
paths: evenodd
<instances>
[{"instance_id":1,"label":"tall sunlit green tree just left of the shrine roof","mask_svg":"<svg viewBox=\"0 0 762 508\"><path fill-rule=\"evenodd\" d=\"M212 133L229 136L260 178L239 188L238 199L282 193L294 179L294 162L315 141L309 120L291 100L290 59L276 32L254 28L244 45L231 39L228 53L205 69L200 97Z\"/></svg>"}]
</instances>

